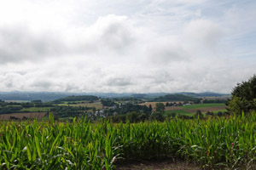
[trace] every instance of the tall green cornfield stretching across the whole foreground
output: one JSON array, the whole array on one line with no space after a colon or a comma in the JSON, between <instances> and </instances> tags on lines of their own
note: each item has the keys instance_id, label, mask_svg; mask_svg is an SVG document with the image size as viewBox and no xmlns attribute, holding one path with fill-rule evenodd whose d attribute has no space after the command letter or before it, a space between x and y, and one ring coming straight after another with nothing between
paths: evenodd
<instances>
[{"instance_id":1,"label":"tall green cornfield stretching across the whole foreground","mask_svg":"<svg viewBox=\"0 0 256 170\"><path fill-rule=\"evenodd\" d=\"M172 157L210 169L253 168L256 115L166 122L0 122L0 169L115 169Z\"/></svg>"}]
</instances>

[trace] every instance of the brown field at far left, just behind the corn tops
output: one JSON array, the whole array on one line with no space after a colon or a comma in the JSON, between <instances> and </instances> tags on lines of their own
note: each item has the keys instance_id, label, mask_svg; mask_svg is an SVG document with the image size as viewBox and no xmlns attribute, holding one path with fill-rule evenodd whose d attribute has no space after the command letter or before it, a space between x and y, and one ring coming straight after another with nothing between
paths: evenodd
<instances>
[{"instance_id":1,"label":"brown field at far left, just behind the corn tops","mask_svg":"<svg viewBox=\"0 0 256 170\"><path fill-rule=\"evenodd\" d=\"M0 120L8 121L10 120L10 116L14 116L20 120L23 118L23 116L26 116L26 118L30 118L30 119L37 118L38 120L41 120L46 114L47 112L10 113L10 114L0 115Z\"/></svg>"}]
</instances>

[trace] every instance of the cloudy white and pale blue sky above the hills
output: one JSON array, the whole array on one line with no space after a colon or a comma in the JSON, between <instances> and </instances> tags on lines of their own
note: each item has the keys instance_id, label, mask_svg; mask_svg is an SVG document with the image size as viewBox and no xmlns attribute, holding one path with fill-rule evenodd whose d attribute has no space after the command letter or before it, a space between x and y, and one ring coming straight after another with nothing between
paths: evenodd
<instances>
[{"instance_id":1,"label":"cloudy white and pale blue sky above the hills","mask_svg":"<svg viewBox=\"0 0 256 170\"><path fill-rule=\"evenodd\" d=\"M0 1L0 91L229 94L256 73L255 0Z\"/></svg>"}]
</instances>

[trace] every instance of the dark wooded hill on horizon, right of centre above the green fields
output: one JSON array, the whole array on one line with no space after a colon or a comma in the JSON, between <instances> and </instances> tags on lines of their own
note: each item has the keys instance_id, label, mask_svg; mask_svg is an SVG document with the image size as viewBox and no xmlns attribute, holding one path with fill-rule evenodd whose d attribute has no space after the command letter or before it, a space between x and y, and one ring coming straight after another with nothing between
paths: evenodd
<instances>
[{"instance_id":1,"label":"dark wooded hill on horizon, right of centre above the green fields","mask_svg":"<svg viewBox=\"0 0 256 170\"><path fill-rule=\"evenodd\" d=\"M155 102L163 102L163 101L198 101L199 99L183 95L183 94L167 94L165 96L160 96L158 98L154 98Z\"/></svg>"}]
</instances>

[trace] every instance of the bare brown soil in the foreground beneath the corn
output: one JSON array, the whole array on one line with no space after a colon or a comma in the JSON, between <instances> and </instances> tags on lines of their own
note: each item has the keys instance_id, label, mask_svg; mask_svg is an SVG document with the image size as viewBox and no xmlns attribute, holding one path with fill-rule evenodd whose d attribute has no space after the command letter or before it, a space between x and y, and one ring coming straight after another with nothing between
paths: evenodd
<instances>
[{"instance_id":1,"label":"bare brown soil in the foreground beneath the corn","mask_svg":"<svg viewBox=\"0 0 256 170\"><path fill-rule=\"evenodd\" d=\"M144 161L137 163L127 163L124 165L117 165L117 170L201 170L193 164L185 161Z\"/></svg>"}]
</instances>

